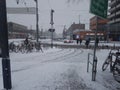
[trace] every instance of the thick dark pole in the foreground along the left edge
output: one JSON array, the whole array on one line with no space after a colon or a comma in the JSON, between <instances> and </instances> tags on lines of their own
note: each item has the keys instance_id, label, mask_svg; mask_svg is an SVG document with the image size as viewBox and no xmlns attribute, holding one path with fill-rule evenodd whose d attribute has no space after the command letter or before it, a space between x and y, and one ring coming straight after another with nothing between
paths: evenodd
<instances>
[{"instance_id":1,"label":"thick dark pole in the foreground along the left edge","mask_svg":"<svg viewBox=\"0 0 120 90\"><path fill-rule=\"evenodd\" d=\"M7 13L6 0L0 0L0 43L2 51L2 72L3 72L3 87L8 90L12 88L11 83L11 66L8 48L8 28L7 28Z\"/></svg>"}]
</instances>

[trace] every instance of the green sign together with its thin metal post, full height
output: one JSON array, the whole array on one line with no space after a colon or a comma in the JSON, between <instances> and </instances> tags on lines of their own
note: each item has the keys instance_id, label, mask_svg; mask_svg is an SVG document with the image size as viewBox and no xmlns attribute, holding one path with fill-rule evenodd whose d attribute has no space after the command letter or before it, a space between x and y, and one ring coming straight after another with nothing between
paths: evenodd
<instances>
[{"instance_id":1,"label":"green sign together with its thin metal post, full height","mask_svg":"<svg viewBox=\"0 0 120 90\"><path fill-rule=\"evenodd\" d=\"M91 0L90 3L90 13L96 15L96 30L95 30L95 44L93 52L93 66L92 66L92 81L96 80L96 68L97 68L97 59L96 59L96 48L97 48L97 29L98 29L98 16L102 18L107 18L107 9L108 9L108 0Z\"/></svg>"}]
</instances>

